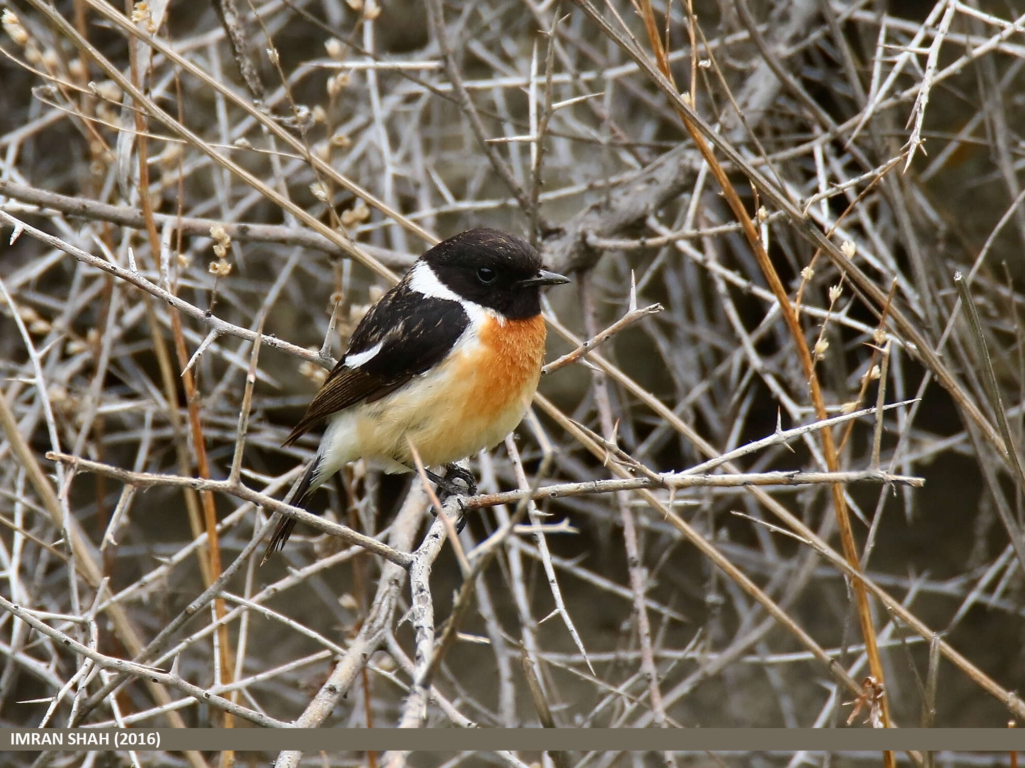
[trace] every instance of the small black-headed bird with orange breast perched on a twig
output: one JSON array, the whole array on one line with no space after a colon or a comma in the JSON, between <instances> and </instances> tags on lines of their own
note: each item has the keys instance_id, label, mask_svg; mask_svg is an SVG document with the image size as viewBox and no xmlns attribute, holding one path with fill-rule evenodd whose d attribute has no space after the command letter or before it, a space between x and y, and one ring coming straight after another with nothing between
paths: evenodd
<instances>
[{"instance_id":1,"label":"small black-headed bird with orange breast perched on a twig","mask_svg":"<svg viewBox=\"0 0 1025 768\"><path fill-rule=\"evenodd\" d=\"M320 446L295 492L310 495L346 464L415 471L410 443L445 495L453 479L477 493L455 462L497 445L523 420L544 359L541 290L569 283L543 268L522 238L479 227L430 248L367 311L283 446L322 421ZM279 523L263 562L295 526Z\"/></svg>"}]
</instances>

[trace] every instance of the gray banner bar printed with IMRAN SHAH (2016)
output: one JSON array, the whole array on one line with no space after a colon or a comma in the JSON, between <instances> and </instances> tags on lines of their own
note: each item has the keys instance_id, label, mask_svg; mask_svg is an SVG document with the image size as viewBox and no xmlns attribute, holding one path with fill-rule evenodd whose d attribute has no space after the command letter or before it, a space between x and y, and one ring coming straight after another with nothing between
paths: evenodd
<instances>
[{"instance_id":1,"label":"gray banner bar printed with IMRAN SHAH (2016)","mask_svg":"<svg viewBox=\"0 0 1025 768\"><path fill-rule=\"evenodd\" d=\"M1014 728L46 728L0 729L0 750L834 751L1025 750Z\"/></svg>"}]
</instances>

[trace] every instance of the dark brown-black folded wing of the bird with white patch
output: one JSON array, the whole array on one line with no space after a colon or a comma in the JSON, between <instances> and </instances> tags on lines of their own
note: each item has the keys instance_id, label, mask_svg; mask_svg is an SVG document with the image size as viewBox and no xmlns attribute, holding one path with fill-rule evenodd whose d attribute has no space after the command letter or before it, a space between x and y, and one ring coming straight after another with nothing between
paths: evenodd
<instances>
[{"instance_id":1,"label":"dark brown-black folded wing of the bird with white patch","mask_svg":"<svg viewBox=\"0 0 1025 768\"><path fill-rule=\"evenodd\" d=\"M373 402L424 373L445 358L468 325L458 301L424 296L403 281L357 326L345 356L282 444L291 445L322 419Z\"/></svg>"}]
</instances>

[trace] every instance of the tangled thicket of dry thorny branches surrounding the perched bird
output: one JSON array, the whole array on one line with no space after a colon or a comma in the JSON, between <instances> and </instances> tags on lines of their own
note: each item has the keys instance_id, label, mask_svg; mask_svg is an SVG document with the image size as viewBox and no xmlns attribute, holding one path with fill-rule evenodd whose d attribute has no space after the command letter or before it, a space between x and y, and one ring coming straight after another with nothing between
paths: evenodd
<instances>
[{"instance_id":1,"label":"tangled thicket of dry thorny branches surrounding the perched bird","mask_svg":"<svg viewBox=\"0 0 1025 768\"><path fill-rule=\"evenodd\" d=\"M1025 717L1025 16L9 5L6 722L843 725L876 662L869 720ZM366 307L481 224L579 290L458 546L362 464L282 501Z\"/></svg>"}]
</instances>

